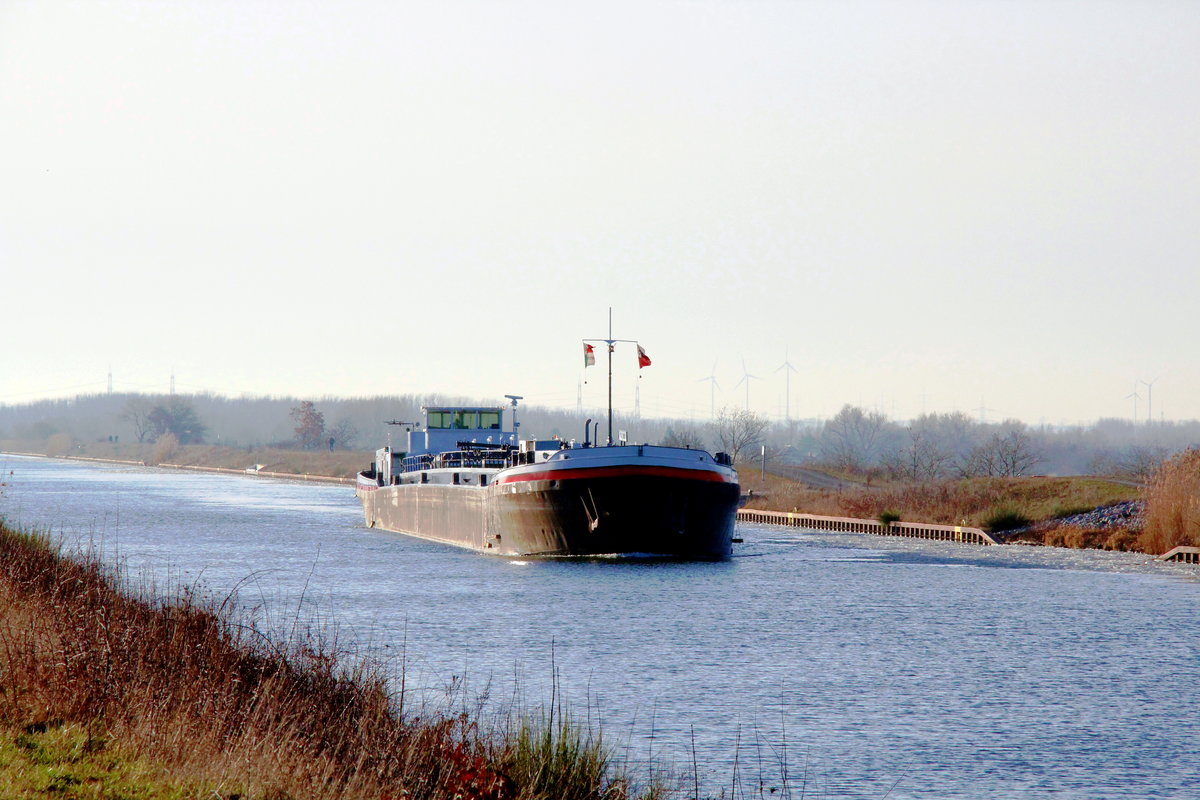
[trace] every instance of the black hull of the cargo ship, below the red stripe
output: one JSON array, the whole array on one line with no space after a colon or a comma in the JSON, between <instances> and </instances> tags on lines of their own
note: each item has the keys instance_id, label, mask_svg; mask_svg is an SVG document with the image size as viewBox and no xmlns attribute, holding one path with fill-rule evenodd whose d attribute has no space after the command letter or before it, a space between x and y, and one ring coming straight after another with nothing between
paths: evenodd
<instances>
[{"instance_id":1,"label":"black hull of the cargo ship, below the red stripe","mask_svg":"<svg viewBox=\"0 0 1200 800\"><path fill-rule=\"evenodd\" d=\"M360 488L371 527L510 557L731 554L739 487L688 477Z\"/></svg>"}]
</instances>

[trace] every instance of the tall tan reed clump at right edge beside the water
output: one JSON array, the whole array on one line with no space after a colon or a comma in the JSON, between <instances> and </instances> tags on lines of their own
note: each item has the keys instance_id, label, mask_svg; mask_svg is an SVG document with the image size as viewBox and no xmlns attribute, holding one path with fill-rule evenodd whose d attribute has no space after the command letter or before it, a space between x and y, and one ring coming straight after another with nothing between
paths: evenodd
<instances>
[{"instance_id":1,"label":"tall tan reed clump at right edge beside the water","mask_svg":"<svg viewBox=\"0 0 1200 800\"><path fill-rule=\"evenodd\" d=\"M1146 523L1139 546L1162 555L1180 545L1200 546L1200 450L1169 458L1145 492Z\"/></svg>"}]
</instances>

